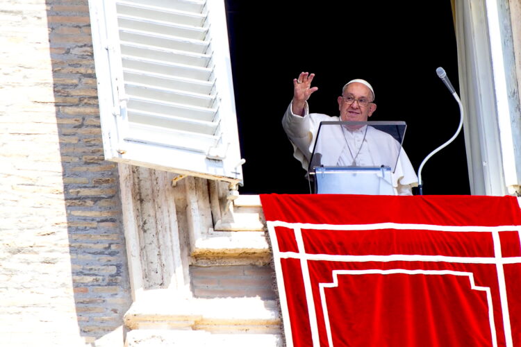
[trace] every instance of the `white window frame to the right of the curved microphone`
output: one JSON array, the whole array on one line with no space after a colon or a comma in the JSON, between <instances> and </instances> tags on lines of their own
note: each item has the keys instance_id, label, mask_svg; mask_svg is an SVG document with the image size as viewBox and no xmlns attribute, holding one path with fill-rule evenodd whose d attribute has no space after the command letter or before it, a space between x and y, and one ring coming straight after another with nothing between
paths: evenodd
<instances>
[{"instance_id":1,"label":"white window frame to the right of the curved microphone","mask_svg":"<svg viewBox=\"0 0 521 347\"><path fill-rule=\"evenodd\" d=\"M520 105L508 97L518 88L511 27L499 26L510 17L493 0L456 0L454 10L470 189L474 195L515 194L521 137L511 120Z\"/></svg>"}]
</instances>

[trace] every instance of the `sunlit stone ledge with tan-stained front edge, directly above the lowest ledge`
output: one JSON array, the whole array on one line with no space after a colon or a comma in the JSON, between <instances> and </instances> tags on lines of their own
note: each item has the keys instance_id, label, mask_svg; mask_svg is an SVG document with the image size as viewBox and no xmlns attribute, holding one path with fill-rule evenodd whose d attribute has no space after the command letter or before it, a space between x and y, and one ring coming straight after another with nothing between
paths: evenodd
<instances>
[{"instance_id":1,"label":"sunlit stone ledge with tan-stained front edge, directly above the lowest ledge","mask_svg":"<svg viewBox=\"0 0 521 347\"><path fill-rule=\"evenodd\" d=\"M276 301L261 298L176 298L177 291L144 291L124 316L130 329L280 333Z\"/></svg>"}]
</instances>

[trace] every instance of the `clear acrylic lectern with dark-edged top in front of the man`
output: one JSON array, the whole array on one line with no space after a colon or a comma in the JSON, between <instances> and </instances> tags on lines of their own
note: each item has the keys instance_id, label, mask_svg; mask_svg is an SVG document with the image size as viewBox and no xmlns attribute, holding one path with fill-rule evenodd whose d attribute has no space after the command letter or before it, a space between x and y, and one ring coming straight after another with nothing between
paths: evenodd
<instances>
[{"instance_id":1,"label":"clear acrylic lectern with dark-edged top in front of the man","mask_svg":"<svg viewBox=\"0 0 521 347\"><path fill-rule=\"evenodd\" d=\"M404 121L323 121L308 168L315 194L394 195Z\"/></svg>"}]
</instances>

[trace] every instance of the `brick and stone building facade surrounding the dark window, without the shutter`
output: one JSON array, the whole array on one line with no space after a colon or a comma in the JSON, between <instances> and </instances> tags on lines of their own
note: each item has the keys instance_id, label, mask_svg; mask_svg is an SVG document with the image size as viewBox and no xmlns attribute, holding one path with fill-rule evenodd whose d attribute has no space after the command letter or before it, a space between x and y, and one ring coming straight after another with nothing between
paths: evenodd
<instances>
[{"instance_id":1,"label":"brick and stone building facade surrounding the dark window, without the shutter","mask_svg":"<svg viewBox=\"0 0 521 347\"><path fill-rule=\"evenodd\" d=\"M238 196L236 179L106 160L92 3L3 5L3 346L281 346L258 196ZM521 3L454 12L472 192L515 194Z\"/></svg>"}]
</instances>

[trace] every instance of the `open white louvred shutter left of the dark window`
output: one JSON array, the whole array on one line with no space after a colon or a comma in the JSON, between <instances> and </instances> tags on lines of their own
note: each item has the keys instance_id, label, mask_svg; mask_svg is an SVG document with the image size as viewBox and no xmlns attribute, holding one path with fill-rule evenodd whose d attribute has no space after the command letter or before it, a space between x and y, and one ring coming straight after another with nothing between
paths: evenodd
<instances>
[{"instance_id":1,"label":"open white louvred shutter left of the dark window","mask_svg":"<svg viewBox=\"0 0 521 347\"><path fill-rule=\"evenodd\" d=\"M107 160L242 180L224 0L90 0Z\"/></svg>"}]
</instances>

